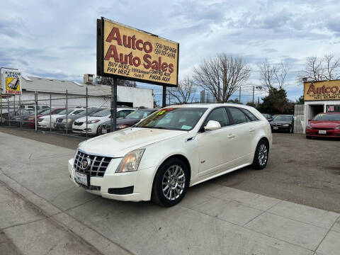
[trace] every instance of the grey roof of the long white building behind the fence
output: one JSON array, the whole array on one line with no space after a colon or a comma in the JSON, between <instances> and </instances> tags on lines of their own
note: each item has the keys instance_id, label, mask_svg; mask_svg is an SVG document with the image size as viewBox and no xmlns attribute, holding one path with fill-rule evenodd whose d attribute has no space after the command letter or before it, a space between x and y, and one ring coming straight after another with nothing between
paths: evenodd
<instances>
[{"instance_id":1,"label":"grey roof of the long white building behind the fence","mask_svg":"<svg viewBox=\"0 0 340 255\"><path fill-rule=\"evenodd\" d=\"M100 85L100 84L84 84L83 82L77 81L65 81L58 79L47 79L40 77L22 77L21 86L23 91L39 91L47 93L60 93L74 95L85 95L86 86L88 88L89 96L103 96L111 95L111 86ZM141 89L133 88L130 89ZM147 89L151 90L152 89Z\"/></svg>"}]
</instances>

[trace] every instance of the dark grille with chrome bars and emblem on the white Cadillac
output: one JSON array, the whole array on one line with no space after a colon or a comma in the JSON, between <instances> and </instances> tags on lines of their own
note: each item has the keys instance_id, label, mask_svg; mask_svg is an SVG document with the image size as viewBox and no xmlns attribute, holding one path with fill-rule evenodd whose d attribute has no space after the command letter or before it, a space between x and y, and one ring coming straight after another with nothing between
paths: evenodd
<instances>
[{"instance_id":1,"label":"dark grille with chrome bars and emblem on the white Cadillac","mask_svg":"<svg viewBox=\"0 0 340 255\"><path fill-rule=\"evenodd\" d=\"M81 164L83 162L83 159L86 158L89 158L91 160L91 164L87 167L87 169L84 170L81 167ZM111 157L94 156L78 151L76 157L74 158L73 167L76 171L90 174L90 176L103 177L108 164L110 164L111 162L111 159Z\"/></svg>"}]
</instances>

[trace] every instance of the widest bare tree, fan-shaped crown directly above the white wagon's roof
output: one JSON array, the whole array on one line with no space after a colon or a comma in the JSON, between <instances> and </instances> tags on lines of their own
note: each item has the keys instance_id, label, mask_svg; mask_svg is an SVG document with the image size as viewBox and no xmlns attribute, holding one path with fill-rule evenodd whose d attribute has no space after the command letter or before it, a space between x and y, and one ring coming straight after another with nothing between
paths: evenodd
<instances>
[{"instance_id":1,"label":"widest bare tree, fan-shaped crown directly above the white wagon's roof","mask_svg":"<svg viewBox=\"0 0 340 255\"><path fill-rule=\"evenodd\" d=\"M225 103L249 79L251 70L242 57L222 53L204 60L193 72L198 86L209 91L217 103Z\"/></svg>"}]
</instances>

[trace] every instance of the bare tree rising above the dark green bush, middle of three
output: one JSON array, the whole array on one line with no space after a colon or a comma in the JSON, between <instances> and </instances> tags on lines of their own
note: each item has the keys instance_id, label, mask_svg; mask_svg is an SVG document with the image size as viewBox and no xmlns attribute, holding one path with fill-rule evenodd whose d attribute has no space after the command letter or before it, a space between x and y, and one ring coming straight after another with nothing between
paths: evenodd
<instances>
[{"instance_id":1,"label":"bare tree rising above the dark green bush, middle of three","mask_svg":"<svg viewBox=\"0 0 340 255\"><path fill-rule=\"evenodd\" d=\"M283 89L286 84L287 74L289 72L288 64L280 62L280 64L271 64L266 59L265 62L259 64L260 83L265 91L271 89Z\"/></svg>"}]
</instances>

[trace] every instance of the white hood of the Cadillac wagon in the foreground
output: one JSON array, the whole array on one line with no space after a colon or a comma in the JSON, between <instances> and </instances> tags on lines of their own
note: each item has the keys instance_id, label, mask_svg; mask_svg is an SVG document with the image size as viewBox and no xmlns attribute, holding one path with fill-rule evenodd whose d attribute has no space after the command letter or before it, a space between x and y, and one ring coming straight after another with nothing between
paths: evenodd
<instances>
[{"instance_id":1,"label":"white hood of the Cadillac wagon in the foreground","mask_svg":"<svg viewBox=\"0 0 340 255\"><path fill-rule=\"evenodd\" d=\"M89 154L124 157L134 149L145 147L171 137L186 135L179 130L160 130L154 128L126 128L94 137L81 143L79 149Z\"/></svg>"}]
</instances>

